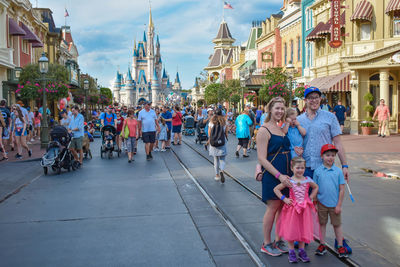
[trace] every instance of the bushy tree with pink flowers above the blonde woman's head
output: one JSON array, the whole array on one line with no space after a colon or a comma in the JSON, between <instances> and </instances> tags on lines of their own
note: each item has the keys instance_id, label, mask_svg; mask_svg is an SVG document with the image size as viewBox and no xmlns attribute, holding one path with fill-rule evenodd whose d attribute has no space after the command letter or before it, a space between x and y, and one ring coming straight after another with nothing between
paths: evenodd
<instances>
[{"instance_id":1,"label":"bushy tree with pink flowers above the blonde woman's head","mask_svg":"<svg viewBox=\"0 0 400 267\"><path fill-rule=\"evenodd\" d=\"M288 76L283 68L268 68L264 71L265 84L260 89L260 99L268 103L272 98L280 96L286 102L290 99L290 89L288 85Z\"/></svg>"}]
</instances>

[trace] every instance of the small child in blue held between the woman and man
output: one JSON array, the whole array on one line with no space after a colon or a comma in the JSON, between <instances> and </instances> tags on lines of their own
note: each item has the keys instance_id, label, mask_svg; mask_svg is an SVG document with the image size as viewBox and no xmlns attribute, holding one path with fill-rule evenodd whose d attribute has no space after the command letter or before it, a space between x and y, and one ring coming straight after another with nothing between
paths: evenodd
<instances>
[{"instance_id":1,"label":"small child in blue held between the woman and man","mask_svg":"<svg viewBox=\"0 0 400 267\"><path fill-rule=\"evenodd\" d=\"M306 129L301 127L297 121L297 110L289 108L286 111L286 123L283 132L286 133L290 140L290 153L292 158L303 156L303 137L306 136Z\"/></svg>"}]
</instances>

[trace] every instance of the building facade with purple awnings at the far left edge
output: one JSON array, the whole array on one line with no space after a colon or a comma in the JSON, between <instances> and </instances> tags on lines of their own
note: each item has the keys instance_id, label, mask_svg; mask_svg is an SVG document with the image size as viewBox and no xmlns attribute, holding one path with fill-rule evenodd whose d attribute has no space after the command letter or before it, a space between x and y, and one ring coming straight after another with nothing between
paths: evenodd
<instances>
[{"instance_id":1,"label":"building facade with purple awnings at the far left edge","mask_svg":"<svg viewBox=\"0 0 400 267\"><path fill-rule=\"evenodd\" d=\"M0 0L0 99L15 103L19 74L38 61L46 35L40 13L28 0Z\"/></svg>"}]
</instances>

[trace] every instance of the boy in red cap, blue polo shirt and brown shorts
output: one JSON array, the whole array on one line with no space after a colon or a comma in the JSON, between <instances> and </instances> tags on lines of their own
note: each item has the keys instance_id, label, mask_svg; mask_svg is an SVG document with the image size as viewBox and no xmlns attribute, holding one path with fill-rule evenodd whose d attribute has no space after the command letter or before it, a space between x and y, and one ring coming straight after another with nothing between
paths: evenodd
<instances>
[{"instance_id":1,"label":"boy in red cap, blue polo shirt and brown shorts","mask_svg":"<svg viewBox=\"0 0 400 267\"><path fill-rule=\"evenodd\" d=\"M338 240L339 257L348 257L348 251L343 247L342 203L344 198L345 180L343 171L334 165L337 148L332 144L323 145L321 157L323 164L315 169L313 180L318 185L318 220L320 224L320 241L317 255L326 253L325 236L328 215Z\"/></svg>"}]
</instances>

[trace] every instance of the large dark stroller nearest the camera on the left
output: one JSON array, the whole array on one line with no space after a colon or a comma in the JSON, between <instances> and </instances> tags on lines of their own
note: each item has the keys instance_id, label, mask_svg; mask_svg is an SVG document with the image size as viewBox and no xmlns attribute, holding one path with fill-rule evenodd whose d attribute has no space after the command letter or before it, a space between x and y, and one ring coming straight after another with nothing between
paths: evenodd
<instances>
[{"instance_id":1,"label":"large dark stroller nearest the camera on the left","mask_svg":"<svg viewBox=\"0 0 400 267\"><path fill-rule=\"evenodd\" d=\"M64 126L55 126L50 132L50 138L47 151L40 161L44 174L47 175L50 167L57 174L61 173L62 168L68 171L71 171L71 168L77 169L78 166L69 150L71 137L68 130Z\"/></svg>"}]
</instances>

